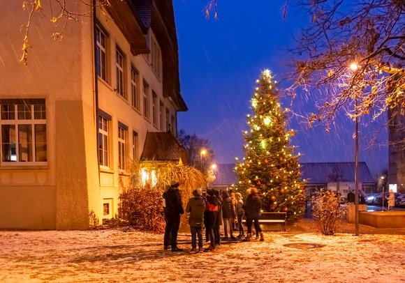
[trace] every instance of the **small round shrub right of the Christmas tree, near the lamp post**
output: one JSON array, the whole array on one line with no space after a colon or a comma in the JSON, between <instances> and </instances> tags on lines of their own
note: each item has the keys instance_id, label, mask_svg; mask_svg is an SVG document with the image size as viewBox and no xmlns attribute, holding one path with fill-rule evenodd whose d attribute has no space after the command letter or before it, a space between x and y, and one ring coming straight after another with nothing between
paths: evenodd
<instances>
[{"instance_id":1,"label":"small round shrub right of the Christmas tree, near the lamp post","mask_svg":"<svg viewBox=\"0 0 405 283\"><path fill-rule=\"evenodd\" d=\"M323 235L334 235L345 215L336 192L321 190L312 201L312 217Z\"/></svg>"}]
</instances>

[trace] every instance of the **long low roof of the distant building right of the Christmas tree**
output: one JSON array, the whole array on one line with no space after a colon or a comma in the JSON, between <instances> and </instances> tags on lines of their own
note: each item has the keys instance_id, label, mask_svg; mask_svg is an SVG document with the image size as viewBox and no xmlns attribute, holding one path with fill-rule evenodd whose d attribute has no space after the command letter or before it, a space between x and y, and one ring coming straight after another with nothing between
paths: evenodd
<instances>
[{"instance_id":1,"label":"long low roof of the distant building right of the Christmas tree","mask_svg":"<svg viewBox=\"0 0 405 283\"><path fill-rule=\"evenodd\" d=\"M366 162L359 162L359 182L375 183ZM309 184L354 182L355 162L301 163L302 178ZM339 177L339 180L338 178Z\"/></svg>"}]
</instances>

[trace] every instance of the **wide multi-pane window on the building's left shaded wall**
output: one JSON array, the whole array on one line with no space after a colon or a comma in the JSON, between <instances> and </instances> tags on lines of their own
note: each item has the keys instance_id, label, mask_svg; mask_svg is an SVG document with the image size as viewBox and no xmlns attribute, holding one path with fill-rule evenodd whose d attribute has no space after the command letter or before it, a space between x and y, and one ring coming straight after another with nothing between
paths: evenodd
<instances>
[{"instance_id":1,"label":"wide multi-pane window on the building's left shaded wall","mask_svg":"<svg viewBox=\"0 0 405 283\"><path fill-rule=\"evenodd\" d=\"M1 162L47 162L45 99L0 100Z\"/></svg>"}]
</instances>

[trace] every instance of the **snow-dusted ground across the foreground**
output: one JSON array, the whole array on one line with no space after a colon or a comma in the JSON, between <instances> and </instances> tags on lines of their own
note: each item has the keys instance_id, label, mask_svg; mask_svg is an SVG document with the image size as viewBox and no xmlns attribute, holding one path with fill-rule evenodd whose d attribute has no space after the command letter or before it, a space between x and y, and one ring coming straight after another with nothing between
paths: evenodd
<instances>
[{"instance_id":1,"label":"snow-dusted ground across the foreground","mask_svg":"<svg viewBox=\"0 0 405 283\"><path fill-rule=\"evenodd\" d=\"M193 254L133 229L0 231L0 282L405 282L405 236L288 229Z\"/></svg>"}]
</instances>

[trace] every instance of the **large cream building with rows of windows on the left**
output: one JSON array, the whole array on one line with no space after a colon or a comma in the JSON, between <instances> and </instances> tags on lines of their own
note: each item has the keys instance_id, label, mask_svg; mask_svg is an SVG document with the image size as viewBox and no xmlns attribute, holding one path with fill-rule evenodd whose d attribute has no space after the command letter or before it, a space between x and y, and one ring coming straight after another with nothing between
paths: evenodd
<instances>
[{"instance_id":1,"label":"large cream building with rows of windows on the left","mask_svg":"<svg viewBox=\"0 0 405 283\"><path fill-rule=\"evenodd\" d=\"M87 229L92 214L115 217L147 132L176 135L187 110L172 1L67 1L78 16L60 42L52 2L31 17L27 66L29 9L8 1L0 11L0 229Z\"/></svg>"}]
</instances>

